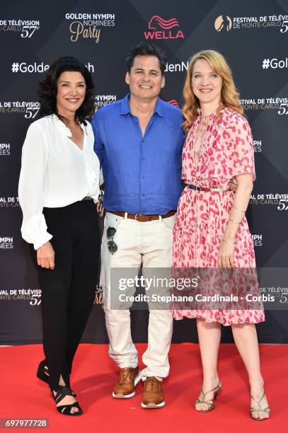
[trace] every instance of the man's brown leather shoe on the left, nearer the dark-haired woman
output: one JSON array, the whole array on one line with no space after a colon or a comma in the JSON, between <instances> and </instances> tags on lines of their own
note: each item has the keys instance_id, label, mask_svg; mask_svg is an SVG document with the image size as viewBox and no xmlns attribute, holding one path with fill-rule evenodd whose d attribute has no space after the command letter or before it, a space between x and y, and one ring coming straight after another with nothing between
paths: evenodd
<instances>
[{"instance_id":1,"label":"man's brown leather shoe on the left, nearer the dark-haired woman","mask_svg":"<svg viewBox=\"0 0 288 433\"><path fill-rule=\"evenodd\" d=\"M126 367L120 369L119 379L116 383L112 396L114 398L131 398L135 395L135 386L141 380L139 366L135 369Z\"/></svg>"}]
</instances>

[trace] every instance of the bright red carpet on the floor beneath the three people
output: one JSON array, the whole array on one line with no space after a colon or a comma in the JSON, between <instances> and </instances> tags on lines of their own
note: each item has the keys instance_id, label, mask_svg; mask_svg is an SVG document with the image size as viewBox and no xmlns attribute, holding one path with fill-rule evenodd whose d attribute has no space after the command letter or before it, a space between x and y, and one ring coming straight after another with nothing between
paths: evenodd
<instances>
[{"instance_id":1,"label":"bright red carpet on the floor beneath the three people","mask_svg":"<svg viewBox=\"0 0 288 433\"><path fill-rule=\"evenodd\" d=\"M145 347L137 345L139 354L142 355ZM164 381L166 407L158 410L140 407L142 383L130 400L111 397L117 369L107 350L107 345L79 347L71 383L85 412L81 417L67 417L57 412L48 386L35 377L42 359L42 346L0 347L0 418L46 418L50 422L46 432L64 433L288 431L287 345L260 346L272 412L270 420L263 422L249 417L248 379L234 345L220 347L219 375L223 391L216 409L209 413L197 413L193 408L202 380L198 345L172 345L171 374Z\"/></svg>"}]
</instances>

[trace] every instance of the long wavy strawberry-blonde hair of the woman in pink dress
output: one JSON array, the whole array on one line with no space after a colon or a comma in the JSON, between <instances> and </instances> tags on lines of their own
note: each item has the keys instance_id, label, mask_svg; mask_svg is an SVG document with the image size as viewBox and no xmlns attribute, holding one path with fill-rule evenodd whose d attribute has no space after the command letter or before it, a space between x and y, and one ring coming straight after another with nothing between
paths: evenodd
<instances>
[{"instance_id":1,"label":"long wavy strawberry-blonde hair of the woman in pink dress","mask_svg":"<svg viewBox=\"0 0 288 433\"><path fill-rule=\"evenodd\" d=\"M214 50L204 50L197 52L189 62L187 77L183 88L183 96L185 104L183 106L183 115L185 121L183 122L183 128L187 133L190 129L195 117L197 116L197 110L200 108L200 102L197 96L192 91L192 73L193 68L197 60L204 59L209 64L209 67L215 74L221 76L223 80L221 90L221 103L218 108L218 112L221 108L228 107L232 110L239 112L243 115L243 107L239 103L240 93L238 93L232 71L226 62L226 59L222 54Z\"/></svg>"}]
</instances>

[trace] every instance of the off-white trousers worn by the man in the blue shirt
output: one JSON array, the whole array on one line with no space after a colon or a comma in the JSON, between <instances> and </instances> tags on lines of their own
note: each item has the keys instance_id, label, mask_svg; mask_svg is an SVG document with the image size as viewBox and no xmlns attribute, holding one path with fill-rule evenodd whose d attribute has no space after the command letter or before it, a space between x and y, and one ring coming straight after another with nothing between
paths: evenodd
<instances>
[{"instance_id":1,"label":"off-white trousers worn by the man in the blue shirt","mask_svg":"<svg viewBox=\"0 0 288 433\"><path fill-rule=\"evenodd\" d=\"M165 219L140 222L127 217L118 217L110 212L106 214L101 245L100 284L103 287L105 321L110 340L109 354L121 369L135 368L138 365L138 352L131 337L129 306L123 310L113 307L113 293L117 296L119 287L111 287L113 284L111 284L110 270L117 267L129 268L128 275L135 277L142 264L143 276L146 277L149 275L148 268L152 268L151 275L154 273L153 268L170 269L174 222L175 215ZM113 241L117 245L117 251L114 254L108 250L108 227L116 229ZM125 290L125 294L133 295L134 291L135 287L132 287L128 291ZM169 309L152 308L149 305L148 347L142 357L146 365L142 370L143 380L147 376L156 376L161 380L169 373L168 352L173 331L172 313Z\"/></svg>"}]
</instances>

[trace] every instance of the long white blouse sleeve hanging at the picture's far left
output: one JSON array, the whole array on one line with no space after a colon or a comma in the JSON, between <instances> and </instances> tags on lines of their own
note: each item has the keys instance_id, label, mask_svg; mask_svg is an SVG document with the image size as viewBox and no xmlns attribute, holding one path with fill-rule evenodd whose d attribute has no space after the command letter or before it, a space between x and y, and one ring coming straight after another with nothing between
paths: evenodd
<instances>
[{"instance_id":1,"label":"long white blouse sleeve hanging at the picture's far left","mask_svg":"<svg viewBox=\"0 0 288 433\"><path fill-rule=\"evenodd\" d=\"M31 124L22 149L18 196L23 212L21 233L35 250L50 241L43 211L43 183L47 167L48 146L40 126Z\"/></svg>"}]
</instances>

